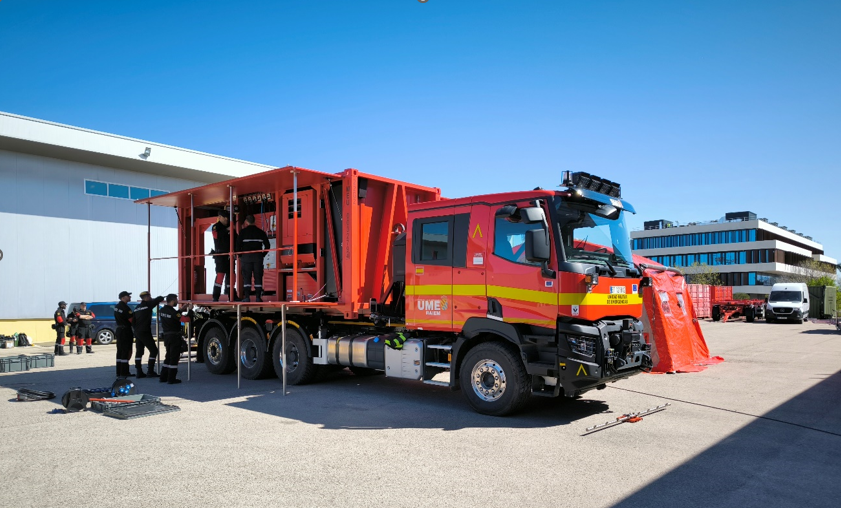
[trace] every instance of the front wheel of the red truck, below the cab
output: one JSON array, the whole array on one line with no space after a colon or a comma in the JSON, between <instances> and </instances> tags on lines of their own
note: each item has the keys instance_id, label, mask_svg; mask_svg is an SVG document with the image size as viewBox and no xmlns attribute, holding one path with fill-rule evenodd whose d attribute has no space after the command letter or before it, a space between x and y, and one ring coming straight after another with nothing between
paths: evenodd
<instances>
[{"instance_id":1,"label":"front wheel of the red truck, below the cab","mask_svg":"<svg viewBox=\"0 0 841 508\"><path fill-rule=\"evenodd\" d=\"M511 346L498 342L479 344L461 363L461 389L478 413L504 416L523 407L531 384L523 362Z\"/></svg>"}]
</instances>

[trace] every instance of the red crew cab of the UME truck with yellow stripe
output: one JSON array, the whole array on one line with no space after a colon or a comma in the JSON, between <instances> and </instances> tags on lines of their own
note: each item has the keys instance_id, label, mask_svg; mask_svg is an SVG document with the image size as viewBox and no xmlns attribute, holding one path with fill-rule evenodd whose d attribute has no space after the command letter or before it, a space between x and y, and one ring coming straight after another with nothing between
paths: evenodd
<instances>
[{"instance_id":1,"label":"red crew cab of the UME truck with yellow stripe","mask_svg":"<svg viewBox=\"0 0 841 508\"><path fill-rule=\"evenodd\" d=\"M652 366L625 223L634 209L613 182L578 173L565 183L409 208L406 326L457 336L451 385L481 412L501 396L488 366L505 370L490 356L468 358L483 341L509 342L532 391L548 396L574 397Z\"/></svg>"}]
</instances>

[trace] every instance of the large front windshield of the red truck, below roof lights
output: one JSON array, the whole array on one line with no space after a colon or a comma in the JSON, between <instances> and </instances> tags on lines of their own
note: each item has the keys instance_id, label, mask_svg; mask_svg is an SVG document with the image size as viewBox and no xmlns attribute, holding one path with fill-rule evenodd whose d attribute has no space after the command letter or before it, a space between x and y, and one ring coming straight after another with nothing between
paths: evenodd
<instances>
[{"instance_id":1,"label":"large front windshield of the red truck, below roof lights","mask_svg":"<svg viewBox=\"0 0 841 508\"><path fill-rule=\"evenodd\" d=\"M612 266L634 266L631 237L624 210L610 205L579 205L558 199L556 203L567 261ZM581 208L581 209L579 209ZM599 214L608 209L613 218Z\"/></svg>"}]
</instances>

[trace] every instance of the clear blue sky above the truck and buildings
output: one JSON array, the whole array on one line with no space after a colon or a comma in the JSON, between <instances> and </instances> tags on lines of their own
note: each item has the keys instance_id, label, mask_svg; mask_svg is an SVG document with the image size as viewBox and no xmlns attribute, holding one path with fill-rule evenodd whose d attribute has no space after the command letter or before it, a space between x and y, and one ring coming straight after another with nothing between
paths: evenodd
<instances>
[{"instance_id":1,"label":"clear blue sky above the truck and buildings","mask_svg":"<svg viewBox=\"0 0 841 508\"><path fill-rule=\"evenodd\" d=\"M623 184L841 258L841 2L0 1L0 110L447 196Z\"/></svg>"}]
</instances>

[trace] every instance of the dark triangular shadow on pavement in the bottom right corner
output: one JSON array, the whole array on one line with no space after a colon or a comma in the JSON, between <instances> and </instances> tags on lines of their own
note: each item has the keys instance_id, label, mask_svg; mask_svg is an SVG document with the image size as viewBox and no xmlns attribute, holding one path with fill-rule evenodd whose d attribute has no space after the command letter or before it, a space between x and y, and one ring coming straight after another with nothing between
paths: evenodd
<instances>
[{"instance_id":1,"label":"dark triangular shadow on pavement in the bottom right corner","mask_svg":"<svg viewBox=\"0 0 841 508\"><path fill-rule=\"evenodd\" d=\"M839 399L841 372L762 415L615 506L838 506ZM656 455L653 450L653 460Z\"/></svg>"}]
</instances>

